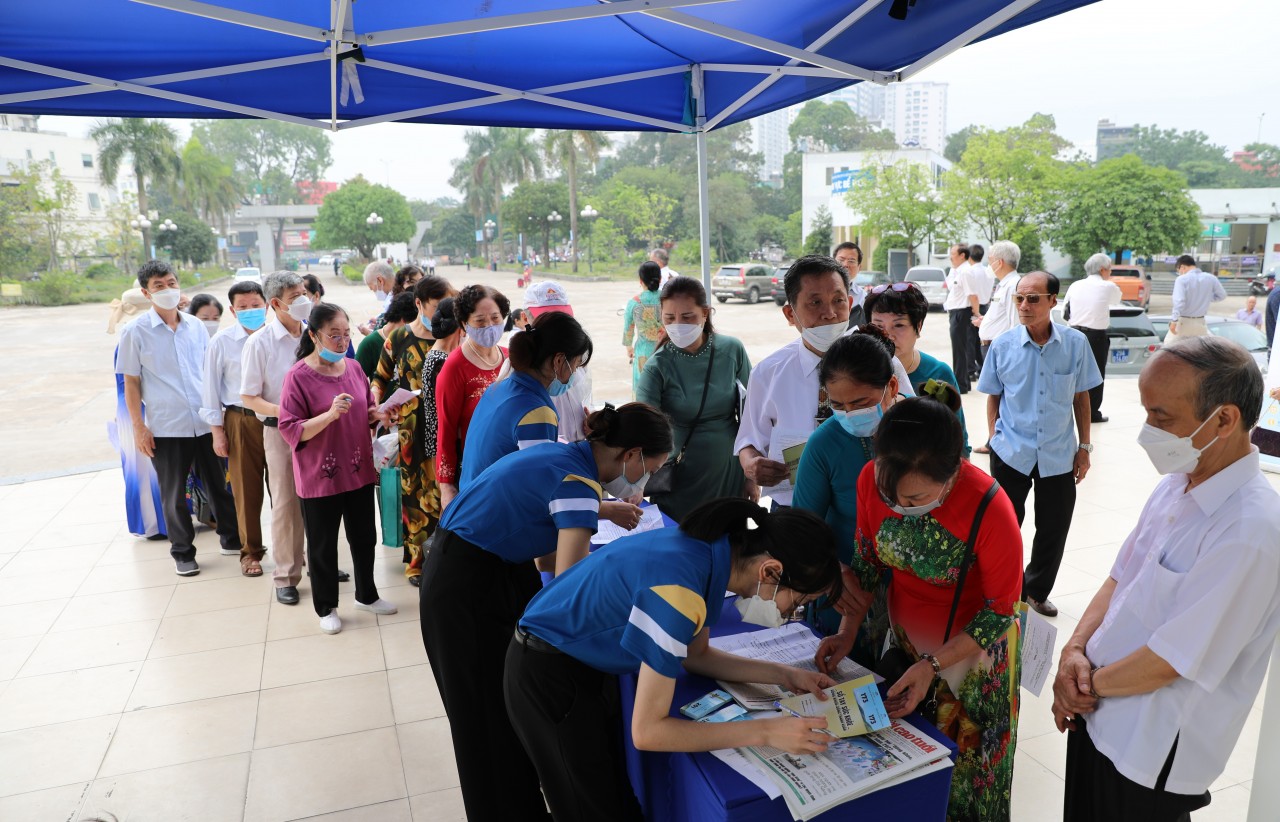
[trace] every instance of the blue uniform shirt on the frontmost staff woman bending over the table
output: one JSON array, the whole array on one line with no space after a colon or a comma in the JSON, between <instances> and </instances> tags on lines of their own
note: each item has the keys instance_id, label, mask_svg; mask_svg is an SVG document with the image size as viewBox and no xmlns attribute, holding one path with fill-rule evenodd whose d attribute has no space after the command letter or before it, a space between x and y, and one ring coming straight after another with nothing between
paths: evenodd
<instances>
[{"instance_id":1,"label":"blue uniform shirt on the frontmost staff woman bending over the table","mask_svg":"<svg viewBox=\"0 0 1280 822\"><path fill-rule=\"evenodd\" d=\"M520 626L584 665L680 673L689 643L719 620L732 566L728 538L668 528L614 540L557 576Z\"/></svg>"}]
</instances>

